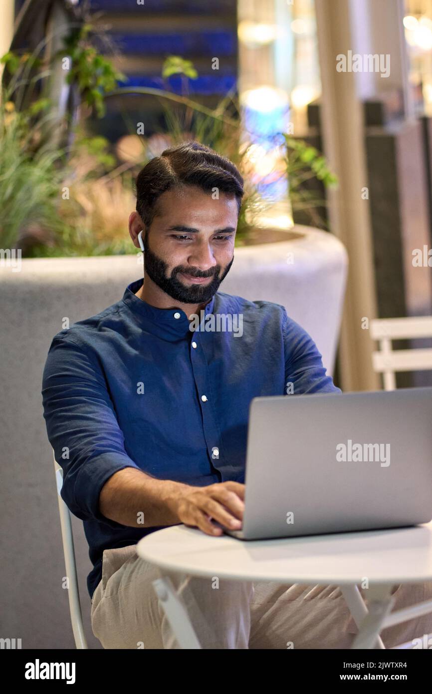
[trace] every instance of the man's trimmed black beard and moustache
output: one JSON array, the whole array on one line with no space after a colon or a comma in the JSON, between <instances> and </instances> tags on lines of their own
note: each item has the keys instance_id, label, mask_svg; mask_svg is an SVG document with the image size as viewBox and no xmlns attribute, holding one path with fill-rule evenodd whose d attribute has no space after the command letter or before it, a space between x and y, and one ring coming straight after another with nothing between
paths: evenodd
<instances>
[{"instance_id":1,"label":"man's trimmed black beard and moustache","mask_svg":"<svg viewBox=\"0 0 432 694\"><path fill-rule=\"evenodd\" d=\"M178 280L178 273L188 273L187 269L182 268L181 265L176 266L171 271L171 277L166 277L168 270L168 265L164 260L157 257L153 251L148 248L148 239L146 238L145 243L146 251L144 252L144 272L148 274L150 280L155 282L155 285L160 287L162 291L169 294L175 301L180 301L185 304L198 304L209 301L211 297L216 294L219 289L219 285L227 276L230 271L232 262L234 261L234 255L231 262L226 266L223 275L219 277L221 272L221 266L216 265L215 268L211 269L211 272L207 273L194 273L194 277L211 277L213 279L209 285L202 287L201 285L191 285L191 287L185 287L185 285ZM190 273L189 273L190 274Z\"/></svg>"}]
</instances>

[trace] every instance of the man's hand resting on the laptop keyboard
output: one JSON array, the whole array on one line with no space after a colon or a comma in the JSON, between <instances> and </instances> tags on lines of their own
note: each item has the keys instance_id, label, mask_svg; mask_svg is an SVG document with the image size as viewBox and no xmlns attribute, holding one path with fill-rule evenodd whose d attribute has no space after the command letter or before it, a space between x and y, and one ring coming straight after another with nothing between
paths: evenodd
<instances>
[{"instance_id":1,"label":"man's hand resting on the laptop keyboard","mask_svg":"<svg viewBox=\"0 0 432 694\"><path fill-rule=\"evenodd\" d=\"M207 535L221 535L223 530L240 530L243 520L245 485L240 482L219 482L209 486L189 486L172 499L173 510L184 525L199 527Z\"/></svg>"}]
</instances>

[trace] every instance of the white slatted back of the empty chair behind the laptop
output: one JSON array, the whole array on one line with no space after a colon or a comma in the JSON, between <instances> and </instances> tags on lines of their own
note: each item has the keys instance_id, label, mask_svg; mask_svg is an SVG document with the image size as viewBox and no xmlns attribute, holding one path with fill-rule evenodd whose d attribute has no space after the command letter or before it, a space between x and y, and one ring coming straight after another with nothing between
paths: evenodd
<instances>
[{"instance_id":1,"label":"white slatted back of the empty chair behind the laptop","mask_svg":"<svg viewBox=\"0 0 432 694\"><path fill-rule=\"evenodd\" d=\"M432 369L432 348L392 350L392 340L432 337L432 316L372 320L370 337L379 341L379 351L372 353L372 366L383 374L384 390L396 389L397 371Z\"/></svg>"}]
</instances>

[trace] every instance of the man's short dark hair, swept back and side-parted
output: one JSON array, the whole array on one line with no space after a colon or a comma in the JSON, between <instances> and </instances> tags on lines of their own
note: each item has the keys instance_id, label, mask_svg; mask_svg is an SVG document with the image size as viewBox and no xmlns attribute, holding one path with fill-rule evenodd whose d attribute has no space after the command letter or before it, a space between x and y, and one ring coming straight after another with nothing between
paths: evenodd
<instances>
[{"instance_id":1,"label":"man's short dark hair, swept back and side-parted","mask_svg":"<svg viewBox=\"0 0 432 694\"><path fill-rule=\"evenodd\" d=\"M240 212L243 178L238 169L204 144L186 142L151 159L137 176L137 212L146 229L155 216L159 196L182 184L197 185L209 192L218 188L223 193L234 193Z\"/></svg>"}]
</instances>

